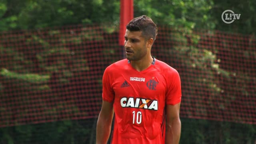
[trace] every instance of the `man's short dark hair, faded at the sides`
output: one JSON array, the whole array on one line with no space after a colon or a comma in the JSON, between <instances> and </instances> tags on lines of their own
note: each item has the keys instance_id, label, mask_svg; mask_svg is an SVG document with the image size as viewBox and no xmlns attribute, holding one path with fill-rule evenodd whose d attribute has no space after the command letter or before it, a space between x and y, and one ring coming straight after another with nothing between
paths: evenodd
<instances>
[{"instance_id":1,"label":"man's short dark hair, faded at the sides","mask_svg":"<svg viewBox=\"0 0 256 144\"><path fill-rule=\"evenodd\" d=\"M132 31L141 31L142 36L148 40L150 38L153 38L153 40L156 40L157 36L157 26L153 22L153 20L146 16L142 15L136 18L133 18L127 25L126 29Z\"/></svg>"}]
</instances>

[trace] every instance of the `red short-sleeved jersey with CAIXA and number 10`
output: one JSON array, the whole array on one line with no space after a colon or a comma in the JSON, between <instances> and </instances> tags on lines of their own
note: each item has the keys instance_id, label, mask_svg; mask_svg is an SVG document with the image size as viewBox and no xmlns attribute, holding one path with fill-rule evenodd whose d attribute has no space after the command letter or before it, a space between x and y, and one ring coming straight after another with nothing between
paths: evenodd
<instances>
[{"instance_id":1,"label":"red short-sleeved jersey with CAIXA and number 10","mask_svg":"<svg viewBox=\"0 0 256 144\"><path fill-rule=\"evenodd\" d=\"M178 72L156 60L138 72L127 59L108 66L102 98L114 102L112 144L163 144L165 106L181 102Z\"/></svg>"}]
</instances>

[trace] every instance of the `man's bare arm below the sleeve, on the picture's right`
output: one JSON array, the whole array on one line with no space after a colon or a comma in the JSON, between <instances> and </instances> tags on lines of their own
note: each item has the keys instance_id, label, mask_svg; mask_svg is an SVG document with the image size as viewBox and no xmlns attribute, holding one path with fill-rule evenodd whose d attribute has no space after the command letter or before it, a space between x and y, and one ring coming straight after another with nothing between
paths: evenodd
<instances>
[{"instance_id":1,"label":"man's bare arm below the sleeve, on the picture's right","mask_svg":"<svg viewBox=\"0 0 256 144\"><path fill-rule=\"evenodd\" d=\"M166 144L179 144L180 132L180 103L166 105Z\"/></svg>"}]
</instances>

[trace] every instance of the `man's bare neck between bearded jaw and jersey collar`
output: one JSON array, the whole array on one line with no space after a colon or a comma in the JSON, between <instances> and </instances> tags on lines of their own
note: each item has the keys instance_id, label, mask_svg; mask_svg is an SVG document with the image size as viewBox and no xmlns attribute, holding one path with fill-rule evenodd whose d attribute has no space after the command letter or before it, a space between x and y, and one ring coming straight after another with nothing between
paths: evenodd
<instances>
[{"instance_id":1,"label":"man's bare neck between bearded jaw and jersey collar","mask_svg":"<svg viewBox=\"0 0 256 144\"><path fill-rule=\"evenodd\" d=\"M149 55L149 56L145 56L140 60L133 60L133 61L131 60L130 64L134 69L140 72L148 68L152 64L152 62L153 62L153 58L151 55Z\"/></svg>"}]
</instances>

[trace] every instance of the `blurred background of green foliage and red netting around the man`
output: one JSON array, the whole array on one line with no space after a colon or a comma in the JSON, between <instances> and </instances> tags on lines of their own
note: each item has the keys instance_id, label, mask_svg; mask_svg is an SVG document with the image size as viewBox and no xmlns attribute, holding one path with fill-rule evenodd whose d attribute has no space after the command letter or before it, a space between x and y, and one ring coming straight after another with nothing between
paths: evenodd
<instances>
[{"instance_id":1,"label":"blurred background of green foliage and red netting around the man","mask_svg":"<svg viewBox=\"0 0 256 144\"><path fill-rule=\"evenodd\" d=\"M0 144L95 143L102 74L124 58L121 1L0 0ZM180 144L256 143L255 13L255 0L133 1L158 25L152 55L180 73Z\"/></svg>"}]
</instances>

